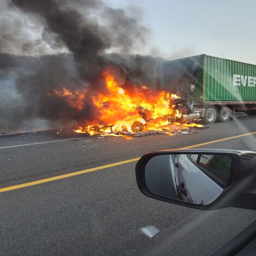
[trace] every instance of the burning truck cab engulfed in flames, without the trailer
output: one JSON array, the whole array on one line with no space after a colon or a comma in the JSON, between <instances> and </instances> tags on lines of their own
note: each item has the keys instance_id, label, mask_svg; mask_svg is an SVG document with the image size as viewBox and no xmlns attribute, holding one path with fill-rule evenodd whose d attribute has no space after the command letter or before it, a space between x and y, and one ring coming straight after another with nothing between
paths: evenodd
<instances>
[{"instance_id":1,"label":"burning truck cab engulfed in flames, without the trailer","mask_svg":"<svg viewBox=\"0 0 256 256\"><path fill-rule=\"evenodd\" d=\"M84 109L92 112L90 119L79 120L77 133L88 135L127 136L139 132L173 135L171 124L187 129L196 124L180 124L182 114L176 94L166 90L150 89L135 82L120 82L118 68L107 68L102 72L101 90L53 90L48 96L62 98L68 105L83 115ZM197 125L200 126L200 125ZM201 126L202 127L202 126Z\"/></svg>"}]
</instances>

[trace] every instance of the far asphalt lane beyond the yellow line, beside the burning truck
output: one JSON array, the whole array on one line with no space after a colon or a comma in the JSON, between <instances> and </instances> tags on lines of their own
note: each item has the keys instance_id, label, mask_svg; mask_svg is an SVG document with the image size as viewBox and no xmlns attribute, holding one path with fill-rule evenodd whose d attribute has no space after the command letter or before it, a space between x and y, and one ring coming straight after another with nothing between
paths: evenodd
<instances>
[{"instance_id":1,"label":"far asphalt lane beyond the yellow line, beside the burning truck","mask_svg":"<svg viewBox=\"0 0 256 256\"><path fill-rule=\"evenodd\" d=\"M95 138L56 133L0 137L0 187L133 159L148 151L178 149L253 131L256 131L255 117L212 124L209 129L199 130L193 135L157 135L132 140L121 137ZM35 144L41 142L51 143ZM250 137L241 138L240 142L242 145L232 145L232 148L255 150ZM226 145L225 142L222 144ZM13 147L15 145L25 146ZM209 147L219 146L211 144Z\"/></svg>"}]
</instances>

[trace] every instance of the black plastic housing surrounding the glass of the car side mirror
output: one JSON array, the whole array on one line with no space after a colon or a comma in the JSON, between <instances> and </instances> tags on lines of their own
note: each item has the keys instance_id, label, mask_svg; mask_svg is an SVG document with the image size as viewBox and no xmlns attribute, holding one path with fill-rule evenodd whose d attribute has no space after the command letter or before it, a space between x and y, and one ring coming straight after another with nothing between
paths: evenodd
<instances>
[{"instance_id":1,"label":"black plastic housing surrounding the glass of the car side mirror","mask_svg":"<svg viewBox=\"0 0 256 256\"><path fill-rule=\"evenodd\" d=\"M149 164L153 161L153 157L164 155L176 157L180 155L191 154L230 157L231 166L229 170L229 175L227 180L225 181L225 184L222 185L222 192L217 194L217 197L213 198L212 202L209 201L208 204L200 204L199 202L196 202L195 204L188 202L189 200L180 200L174 197L169 197L161 192L156 193L156 191L152 189L152 186L149 184L150 178L151 180L155 179L152 175L157 174L157 172L159 172L159 169L151 169L150 172L148 172L147 170ZM165 168L166 166L162 166L161 168L163 167ZM157 175L161 176L161 173L159 172ZM157 175L155 177L157 177ZM214 210L230 206L256 210L256 194L250 193L250 191L256 188L256 153L253 151L205 149L155 151L152 153L145 154L137 162L136 180L139 190L141 190L141 192L145 194L145 196L157 200L162 200L163 202L183 205L190 208L202 210ZM163 182L162 184L162 188L168 189L167 186L169 185L167 185L167 182ZM151 188L151 190L149 187ZM205 193L208 192L206 191ZM248 196L248 194L250 196ZM191 201L193 202L193 200Z\"/></svg>"}]
</instances>

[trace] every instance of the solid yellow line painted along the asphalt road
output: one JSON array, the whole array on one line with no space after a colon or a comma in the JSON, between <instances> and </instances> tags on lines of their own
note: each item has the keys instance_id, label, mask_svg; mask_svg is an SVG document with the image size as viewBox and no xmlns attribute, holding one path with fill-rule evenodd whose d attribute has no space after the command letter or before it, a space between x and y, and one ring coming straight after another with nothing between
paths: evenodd
<instances>
[{"instance_id":1,"label":"solid yellow line painted along the asphalt road","mask_svg":"<svg viewBox=\"0 0 256 256\"><path fill-rule=\"evenodd\" d=\"M191 145L191 146L188 146L188 147L179 148L178 150L180 150L180 149L191 149L191 148L196 148L196 147L200 147L200 146L203 146L203 145L213 144L213 143L222 142L222 141L228 141L229 139L240 138L240 137L243 137L243 136L253 135L255 133L256 133L256 131L255 132L250 132L250 133L245 133L245 134L242 134L242 135L233 136L233 137L217 139L216 141L210 141L210 142L200 143L200 144L196 144L196 145ZM4 187L4 188L0 188L0 193L10 191L10 190L17 190L18 188L22 188L22 187L34 186L34 185L42 184L42 183L53 181L53 180L65 179L65 178L69 178L69 177L84 174L84 173L94 172L95 170L102 170L102 169L106 169L106 168L111 168L111 167L114 167L114 166L119 166L121 164L138 161L140 158L141 157L137 157L135 159L129 159L129 160L120 161L120 162L116 162L116 163L110 163L110 164L106 164L104 166L98 166L98 167L94 167L94 168L90 168L90 169L86 169L86 170L79 170L78 172L67 173L67 174L63 174L63 175L59 175L59 176L53 176L51 178L35 180L35 181L31 181L31 182L27 182L27 183L23 183L23 184L19 184L19 185L14 185L14 186L10 186L10 187Z\"/></svg>"}]
</instances>

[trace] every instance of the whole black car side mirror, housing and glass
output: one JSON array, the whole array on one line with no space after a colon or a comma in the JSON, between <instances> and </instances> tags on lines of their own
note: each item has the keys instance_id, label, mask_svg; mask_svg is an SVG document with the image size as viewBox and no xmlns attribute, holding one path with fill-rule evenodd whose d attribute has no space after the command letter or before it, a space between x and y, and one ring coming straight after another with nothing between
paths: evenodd
<instances>
[{"instance_id":1,"label":"whole black car side mirror, housing and glass","mask_svg":"<svg viewBox=\"0 0 256 256\"><path fill-rule=\"evenodd\" d=\"M138 161L136 179L143 194L164 202L204 210L228 206L252 209L252 203L246 206L239 200L256 188L256 153L156 151ZM256 194L250 198L256 199Z\"/></svg>"}]
</instances>

